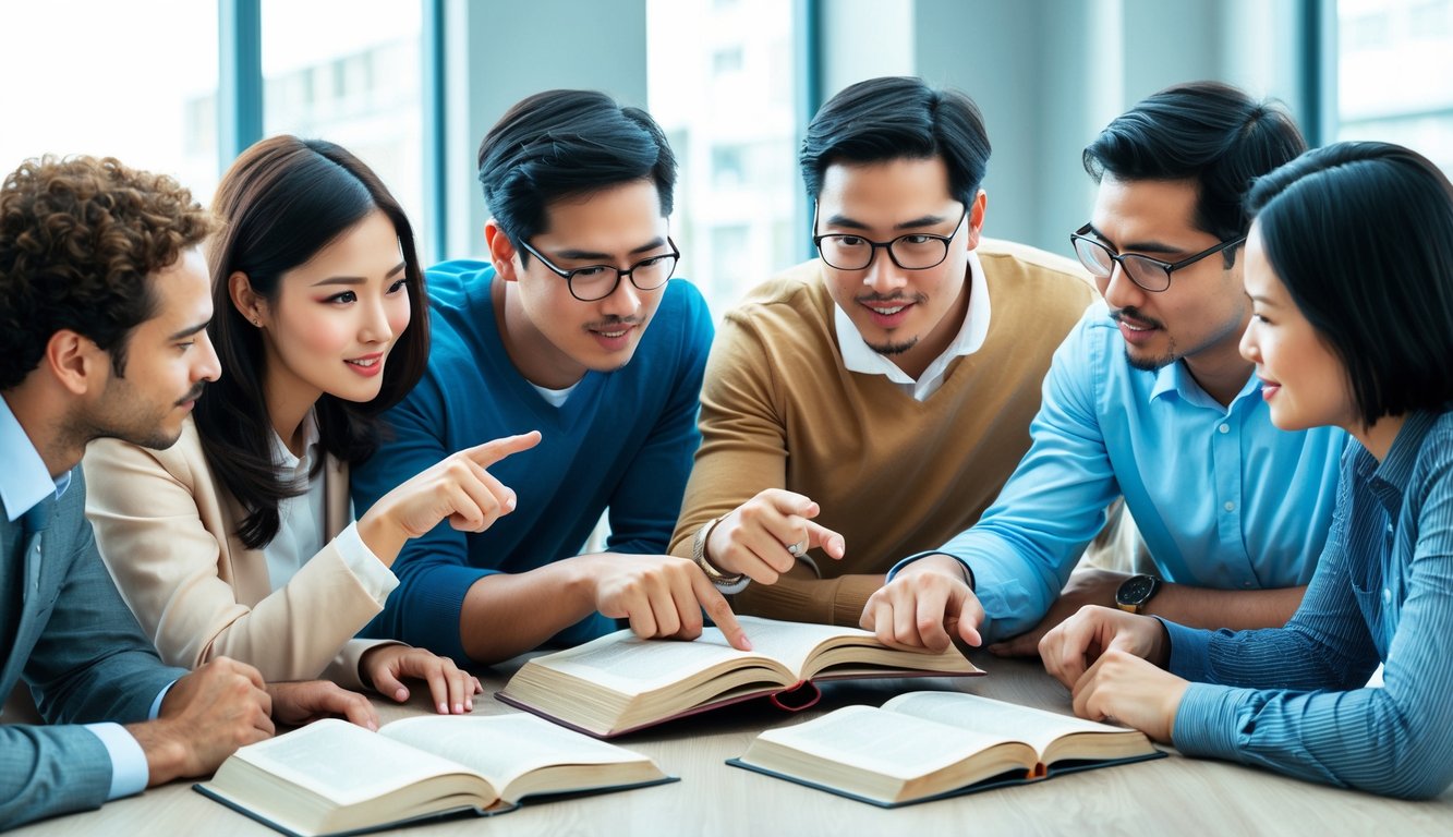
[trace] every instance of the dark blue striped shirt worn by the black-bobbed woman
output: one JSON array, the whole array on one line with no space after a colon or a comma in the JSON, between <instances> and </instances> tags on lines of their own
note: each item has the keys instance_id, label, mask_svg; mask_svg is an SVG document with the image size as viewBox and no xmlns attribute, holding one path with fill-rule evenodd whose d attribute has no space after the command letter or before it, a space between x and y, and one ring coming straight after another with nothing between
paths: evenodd
<instances>
[{"instance_id":1,"label":"dark blue striped shirt worn by the black-bobbed woman","mask_svg":"<svg viewBox=\"0 0 1453 837\"><path fill-rule=\"evenodd\" d=\"M1337 519L1286 628L1165 622L1193 683L1181 753L1389 796L1453 783L1453 413L1415 413L1379 465L1343 461ZM1363 686L1383 664L1383 686Z\"/></svg>"}]
</instances>

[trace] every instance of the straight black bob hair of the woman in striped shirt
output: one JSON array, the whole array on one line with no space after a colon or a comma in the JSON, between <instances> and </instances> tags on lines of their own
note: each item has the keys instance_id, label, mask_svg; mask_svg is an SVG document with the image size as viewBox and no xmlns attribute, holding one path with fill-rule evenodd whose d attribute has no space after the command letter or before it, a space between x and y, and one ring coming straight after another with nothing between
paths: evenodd
<instances>
[{"instance_id":1,"label":"straight black bob hair of the woman in striped shirt","mask_svg":"<svg viewBox=\"0 0 1453 837\"><path fill-rule=\"evenodd\" d=\"M1308 151L1247 196L1271 269L1366 426L1453 401L1453 185L1389 142Z\"/></svg>"}]
</instances>

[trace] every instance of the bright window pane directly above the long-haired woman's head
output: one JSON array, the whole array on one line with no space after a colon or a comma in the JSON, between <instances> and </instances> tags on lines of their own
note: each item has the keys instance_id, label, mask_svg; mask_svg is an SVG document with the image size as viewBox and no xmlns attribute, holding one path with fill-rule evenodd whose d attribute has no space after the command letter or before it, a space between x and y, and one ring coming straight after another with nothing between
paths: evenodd
<instances>
[{"instance_id":1,"label":"bright window pane directly above the long-haired woman's head","mask_svg":"<svg viewBox=\"0 0 1453 837\"><path fill-rule=\"evenodd\" d=\"M263 134L343 145L384 180L427 250L421 4L263 0ZM424 259L430 257L424 253Z\"/></svg>"}]
</instances>

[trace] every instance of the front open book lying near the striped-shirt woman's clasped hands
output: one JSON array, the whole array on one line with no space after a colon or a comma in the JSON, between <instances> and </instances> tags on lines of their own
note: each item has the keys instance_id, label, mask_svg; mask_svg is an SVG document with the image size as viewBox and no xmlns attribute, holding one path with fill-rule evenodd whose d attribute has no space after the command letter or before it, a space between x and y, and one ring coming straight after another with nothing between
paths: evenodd
<instances>
[{"instance_id":1,"label":"front open book lying near the striped-shirt woman's clasped hands","mask_svg":"<svg viewBox=\"0 0 1453 837\"><path fill-rule=\"evenodd\" d=\"M894 808L1164 756L1138 729L960 692L910 692L769 729L726 763Z\"/></svg>"}]
</instances>

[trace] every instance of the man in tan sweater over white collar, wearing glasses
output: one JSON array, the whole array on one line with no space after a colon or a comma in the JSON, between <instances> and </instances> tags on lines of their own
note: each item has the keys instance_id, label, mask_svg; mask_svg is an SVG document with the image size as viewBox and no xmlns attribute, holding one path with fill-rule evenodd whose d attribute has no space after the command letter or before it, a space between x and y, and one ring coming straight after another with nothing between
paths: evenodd
<instances>
[{"instance_id":1,"label":"man in tan sweater over white collar, wearing glasses","mask_svg":"<svg viewBox=\"0 0 1453 837\"><path fill-rule=\"evenodd\" d=\"M718 331L671 552L740 613L857 625L894 562L978 520L1090 304L1069 259L981 238L989 142L962 93L834 96L801 164L819 259Z\"/></svg>"}]
</instances>

